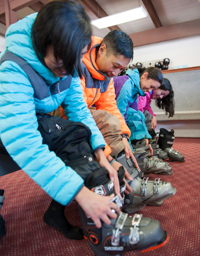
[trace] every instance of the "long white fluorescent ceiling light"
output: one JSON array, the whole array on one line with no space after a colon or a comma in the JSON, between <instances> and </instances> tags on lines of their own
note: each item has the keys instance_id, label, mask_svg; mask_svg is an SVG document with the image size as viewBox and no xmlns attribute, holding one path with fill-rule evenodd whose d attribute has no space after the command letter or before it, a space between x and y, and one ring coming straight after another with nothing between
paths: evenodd
<instances>
[{"instance_id":1,"label":"long white fluorescent ceiling light","mask_svg":"<svg viewBox=\"0 0 200 256\"><path fill-rule=\"evenodd\" d=\"M107 28L117 24L129 22L131 20L138 20L147 16L146 10L143 6L131 9L126 12L120 12L114 15L106 16L97 20L92 20L91 23L98 29Z\"/></svg>"}]
</instances>

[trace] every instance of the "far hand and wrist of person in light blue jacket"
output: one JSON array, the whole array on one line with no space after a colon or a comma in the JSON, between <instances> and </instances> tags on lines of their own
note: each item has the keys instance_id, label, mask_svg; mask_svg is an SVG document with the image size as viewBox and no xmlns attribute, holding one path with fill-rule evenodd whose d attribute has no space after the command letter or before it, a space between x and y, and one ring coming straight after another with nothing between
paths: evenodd
<instances>
[{"instance_id":1,"label":"far hand and wrist of person in light blue jacket","mask_svg":"<svg viewBox=\"0 0 200 256\"><path fill-rule=\"evenodd\" d=\"M109 177L114 183L114 191L116 195L118 195L121 198L120 195L120 183L118 179L117 171L111 166L109 161L106 159L105 154L103 153L103 150L100 148L97 151L95 151L95 156L97 157L97 160L99 162L99 165L101 167L105 167L106 170L109 172Z\"/></svg>"}]
</instances>

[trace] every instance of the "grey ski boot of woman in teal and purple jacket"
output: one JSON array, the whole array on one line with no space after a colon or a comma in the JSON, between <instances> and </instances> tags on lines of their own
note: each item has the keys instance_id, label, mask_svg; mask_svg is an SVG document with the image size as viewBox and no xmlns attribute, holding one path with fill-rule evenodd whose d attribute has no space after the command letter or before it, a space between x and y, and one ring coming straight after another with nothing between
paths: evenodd
<instances>
[{"instance_id":1,"label":"grey ski boot of woman in teal and purple jacket","mask_svg":"<svg viewBox=\"0 0 200 256\"><path fill-rule=\"evenodd\" d=\"M142 140L136 140L134 141L134 144L131 143L131 145L134 149L134 157L137 160L139 158L143 158L145 167L141 169L141 172L143 172L144 175L147 175L149 173L171 175L173 173L169 163L163 162L163 160L157 158L157 156L149 156L149 145L146 145L145 138Z\"/></svg>"}]
</instances>

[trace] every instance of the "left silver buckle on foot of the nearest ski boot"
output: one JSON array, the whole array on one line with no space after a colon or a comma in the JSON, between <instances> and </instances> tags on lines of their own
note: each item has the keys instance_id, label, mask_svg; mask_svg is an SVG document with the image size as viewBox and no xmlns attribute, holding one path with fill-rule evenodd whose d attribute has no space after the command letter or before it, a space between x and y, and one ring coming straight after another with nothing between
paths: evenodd
<instances>
[{"instance_id":1,"label":"left silver buckle on foot of the nearest ski boot","mask_svg":"<svg viewBox=\"0 0 200 256\"><path fill-rule=\"evenodd\" d=\"M120 230L123 229L127 217L128 213L120 212L120 215L115 223L116 229L112 230L111 244L113 246L118 246L120 244Z\"/></svg>"}]
</instances>

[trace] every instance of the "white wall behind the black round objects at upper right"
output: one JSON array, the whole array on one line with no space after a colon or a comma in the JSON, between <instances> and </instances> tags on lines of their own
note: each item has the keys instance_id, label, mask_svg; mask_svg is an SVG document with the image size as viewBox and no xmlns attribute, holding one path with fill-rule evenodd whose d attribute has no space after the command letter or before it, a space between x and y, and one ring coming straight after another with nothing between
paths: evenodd
<instances>
[{"instance_id":1,"label":"white wall behind the black round objects at upper right","mask_svg":"<svg viewBox=\"0 0 200 256\"><path fill-rule=\"evenodd\" d=\"M200 66L200 35L134 47L132 63L164 58L170 59L169 69Z\"/></svg>"}]
</instances>

